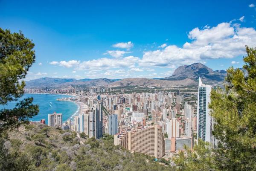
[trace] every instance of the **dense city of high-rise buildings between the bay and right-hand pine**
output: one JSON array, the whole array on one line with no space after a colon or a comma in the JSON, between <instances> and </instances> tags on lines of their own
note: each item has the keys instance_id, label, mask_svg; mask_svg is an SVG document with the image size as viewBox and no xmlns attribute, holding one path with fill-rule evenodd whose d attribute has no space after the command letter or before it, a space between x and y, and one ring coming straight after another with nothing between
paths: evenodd
<instances>
[{"instance_id":1,"label":"dense city of high-rise buildings between the bay and right-hand pine","mask_svg":"<svg viewBox=\"0 0 256 171\"><path fill-rule=\"evenodd\" d=\"M67 121L62 120L58 111L50 113L48 126L84 133L96 139L108 133L114 136L114 145L122 145L131 152L169 159L185 150L185 145L192 149L198 137L217 145L211 135L214 121L208 111L210 85L199 79L198 89L150 88L150 93L127 93L125 88L78 90L76 86L69 86L64 89L25 89L25 93L73 95L56 100L76 102L79 113ZM45 119L40 122L45 124Z\"/></svg>"}]
</instances>

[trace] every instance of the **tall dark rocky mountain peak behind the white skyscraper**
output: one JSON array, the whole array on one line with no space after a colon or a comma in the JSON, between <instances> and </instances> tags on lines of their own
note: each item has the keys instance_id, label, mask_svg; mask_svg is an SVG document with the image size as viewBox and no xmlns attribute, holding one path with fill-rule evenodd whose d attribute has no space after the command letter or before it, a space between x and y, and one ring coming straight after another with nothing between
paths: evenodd
<instances>
[{"instance_id":1,"label":"tall dark rocky mountain peak behind the white skyscraper","mask_svg":"<svg viewBox=\"0 0 256 171\"><path fill-rule=\"evenodd\" d=\"M186 78L198 80L198 78L201 77L204 83L218 84L224 81L226 75L227 72L224 70L213 71L204 64L195 63L189 66L180 66L173 72L172 76L165 77L163 79L172 81L183 80Z\"/></svg>"}]
</instances>

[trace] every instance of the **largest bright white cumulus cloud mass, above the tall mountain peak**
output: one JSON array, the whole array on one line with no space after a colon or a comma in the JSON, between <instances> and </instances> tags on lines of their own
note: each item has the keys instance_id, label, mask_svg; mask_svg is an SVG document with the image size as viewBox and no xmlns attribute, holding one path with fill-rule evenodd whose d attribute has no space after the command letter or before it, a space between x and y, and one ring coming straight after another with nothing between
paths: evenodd
<instances>
[{"instance_id":1,"label":"largest bright white cumulus cloud mass, above the tall mountain peak","mask_svg":"<svg viewBox=\"0 0 256 171\"><path fill-rule=\"evenodd\" d=\"M206 59L233 58L244 55L244 46L256 46L256 30L232 23L220 23L214 27L198 27L189 32L182 47L166 46L164 49L146 51L140 66L168 67L192 64Z\"/></svg>"}]
</instances>

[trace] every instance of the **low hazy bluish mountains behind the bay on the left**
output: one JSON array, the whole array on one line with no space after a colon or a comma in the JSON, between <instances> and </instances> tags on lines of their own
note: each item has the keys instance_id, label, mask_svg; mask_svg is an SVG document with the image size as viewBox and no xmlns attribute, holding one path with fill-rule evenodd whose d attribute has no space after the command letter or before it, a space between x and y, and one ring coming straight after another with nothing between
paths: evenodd
<instances>
[{"instance_id":1,"label":"low hazy bluish mountains behind the bay on the left","mask_svg":"<svg viewBox=\"0 0 256 171\"><path fill-rule=\"evenodd\" d=\"M108 78L97 78L90 79L84 78L76 80L75 78L38 78L30 81L26 81L26 88L59 88L67 87L69 85L80 85L80 86L106 86L118 79L111 80Z\"/></svg>"}]
</instances>

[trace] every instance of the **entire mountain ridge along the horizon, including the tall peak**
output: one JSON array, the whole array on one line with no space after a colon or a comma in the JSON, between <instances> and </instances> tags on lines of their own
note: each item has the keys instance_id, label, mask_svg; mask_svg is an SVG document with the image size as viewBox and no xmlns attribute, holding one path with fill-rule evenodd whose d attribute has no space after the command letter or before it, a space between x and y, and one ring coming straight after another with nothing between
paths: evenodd
<instances>
[{"instance_id":1,"label":"entire mountain ridge along the horizon, including the tall peak","mask_svg":"<svg viewBox=\"0 0 256 171\"><path fill-rule=\"evenodd\" d=\"M201 77L205 84L222 84L227 72L225 70L212 70L201 63L191 65L183 65L177 67L171 76L165 78L123 78L123 79L108 79L108 78L38 78L35 80L26 81L26 88L59 88L70 85L78 85L83 87L91 86L108 86L108 87L123 87L123 86L195 86L198 78Z\"/></svg>"}]
</instances>

